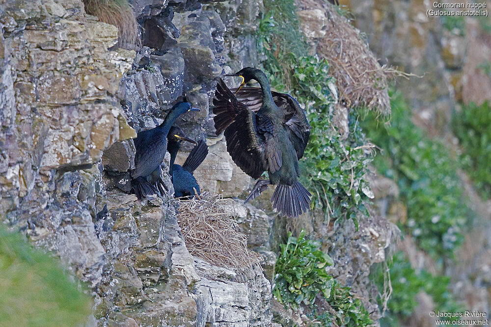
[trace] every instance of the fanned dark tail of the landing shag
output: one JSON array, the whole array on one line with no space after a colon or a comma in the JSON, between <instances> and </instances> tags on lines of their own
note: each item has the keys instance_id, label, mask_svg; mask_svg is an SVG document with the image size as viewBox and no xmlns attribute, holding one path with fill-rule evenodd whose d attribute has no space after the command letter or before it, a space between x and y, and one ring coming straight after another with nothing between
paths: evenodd
<instances>
[{"instance_id":1,"label":"fanned dark tail of the landing shag","mask_svg":"<svg viewBox=\"0 0 491 327\"><path fill-rule=\"evenodd\" d=\"M274 190L271 202L273 208L287 217L297 217L310 208L309 191L297 181L294 185L279 184Z\"/></svg>"}]
</instances>

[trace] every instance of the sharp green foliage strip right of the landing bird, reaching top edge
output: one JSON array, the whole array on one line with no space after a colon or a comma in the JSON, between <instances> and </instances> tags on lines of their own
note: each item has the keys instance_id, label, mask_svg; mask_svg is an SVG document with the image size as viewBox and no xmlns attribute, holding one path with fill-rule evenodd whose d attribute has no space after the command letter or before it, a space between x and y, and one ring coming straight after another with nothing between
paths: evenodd
<instances>
[{"instance_id":1,"label":"sharp green foliage strip right of the landing bird, reaching top edge","mask_svg":"<svg viewBox=\"0 0 491 327\"><path fill-rule=\"evenodd\" d=\"M273 89L294 95L305 106L312 126L310 140L300 160L301 182L313 194L315 208L328 218L355 218L366 212L370 190L367 165L371 160L359 124L350 120L350 133L342 140L332 125L334 81L325 60L305 56L305 41L298 30L293 1L265 1L267 13L260 22L258 51L270 74Z\"/></svg>"}]
</instances>

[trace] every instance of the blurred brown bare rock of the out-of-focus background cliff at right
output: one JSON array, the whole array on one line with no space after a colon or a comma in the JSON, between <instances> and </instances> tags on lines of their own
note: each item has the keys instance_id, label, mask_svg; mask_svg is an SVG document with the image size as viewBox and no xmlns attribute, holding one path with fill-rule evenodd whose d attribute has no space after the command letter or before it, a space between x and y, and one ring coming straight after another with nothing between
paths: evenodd
<instances>
[{"instance_id":1,"label":"blurred brown bare rock of the out-of-focus background cliff at right","mask_svg":"<svg viewBox=\"0 0 491 327\"><path fill-rule=\"evenodd\" d=\"M367 42L383 62L419 76L397 81L398 88L405 90L404 97L413 111L412 120L429 135L443 137L448 149L458 152L450 128L453 112L460 110L459 103L482 104L491 96L491 80L482 69L491 60L490 37L485 27L489 19L454 17L445 22L441 17L428 18L422 13L433 2L342 2L351 9L354 25L367 33ZM459 176L476 215L473 226L467 226L464 245L456 252L455 262L446 267L445 274L452 278L453 294L466 310L488 312L491 263L489 243L485 241L488 236L484 235L490 234L491 205L489 200L477 196L464 172L459 172ZM404 224L408 210L398 200L396 183L378 176L373 189L382 216ZM398 248L416 269L436 271L436 263L417 249L410 236L405 236ZM436 326L426 314L435 308L435 303L426 294L420 294L417 301L409 326Z\"/></svg>"}]
</instances>

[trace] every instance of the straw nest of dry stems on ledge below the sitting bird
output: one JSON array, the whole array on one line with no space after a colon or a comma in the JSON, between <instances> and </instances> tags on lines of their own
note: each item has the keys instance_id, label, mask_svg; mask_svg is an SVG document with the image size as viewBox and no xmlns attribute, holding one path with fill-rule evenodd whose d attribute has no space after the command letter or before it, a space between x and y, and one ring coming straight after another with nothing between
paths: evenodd
<instances>
[{"instance_id":1,"label":"straw nest of dry stems on ledge below the sitting bird","mask_svg":"<svg viewBox=\"0 0 491 327\"><path fill-rule=\"evenodd\" d=\"M208 192L199 199L179 202L177 220L193 256L239 273L261 261L259 253L247 249L247 237L240 232L233 203Z\"/></svg>"}]
</instances>

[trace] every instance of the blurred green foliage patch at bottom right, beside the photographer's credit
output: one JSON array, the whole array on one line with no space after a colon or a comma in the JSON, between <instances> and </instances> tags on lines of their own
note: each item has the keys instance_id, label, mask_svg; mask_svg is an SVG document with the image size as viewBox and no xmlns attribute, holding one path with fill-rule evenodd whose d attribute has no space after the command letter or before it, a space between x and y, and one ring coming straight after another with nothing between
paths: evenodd
<instances>
[{"instance_id":1,"label":"blurred green foliage patch at bottom right, beside the photographer's credit","mask_svg":"<svg viewBox=\"0 0 491 327\"><path fill-rule=\"evenodd\" d=\"M425 270L417 272L411 267L403 252L394 254L392 260L388 263L388 268L392 296L387 302L389 315L382 319L382 326L385 324L394 326L394 321L409 318L418 304L416 295L423 291L432 297L437 310L442 312L462 311L462 308L449 291L449 277L433 276ZM382 272L378 272L376 283L379 289L383 289L386 286L384 285Z\"/></svg>"}]
</instances>

